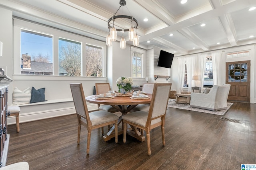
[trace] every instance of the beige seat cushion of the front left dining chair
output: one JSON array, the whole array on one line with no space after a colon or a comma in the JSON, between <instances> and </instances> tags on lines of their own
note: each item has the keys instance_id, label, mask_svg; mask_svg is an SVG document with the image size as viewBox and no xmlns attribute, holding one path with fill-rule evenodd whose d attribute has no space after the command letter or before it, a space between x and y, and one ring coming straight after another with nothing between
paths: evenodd
<instances>
[{"instance_id":1,"label":"beige seat cushion of the front left dining chair","mask_svg":"<svg viewBox=\"0 0 256 170\"><path fill-rule=\"evenodd\" d=\"M89 115L93 126L119 119L117 115L103 110L91 112Z\"/></svg>"}]
</instances>

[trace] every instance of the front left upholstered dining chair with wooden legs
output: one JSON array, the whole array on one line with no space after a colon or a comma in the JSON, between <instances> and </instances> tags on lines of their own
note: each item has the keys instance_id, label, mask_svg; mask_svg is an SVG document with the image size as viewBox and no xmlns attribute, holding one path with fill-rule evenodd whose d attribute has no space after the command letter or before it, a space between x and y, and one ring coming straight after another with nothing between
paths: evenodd
<instances>
[{"instance_id":1,"label":"front left upholstered dining chair with wooden legs","mask_svg":"<svg viewBox=\"0 0 256 170\"><path fill-rule=\"evenodd\" d=\"M72 93L72 97L74 100L74 105L76 109L76 115L78 120L78 137L77 143L80 143L80 132L81 132L81 125L84 125L87 128L87 149L86 153L89 154L90 151L90 139L91 139L91 132L93 129L97 129L100 127L104 127L107 125L115 125L115 142L118 142L118 131L117 131L117 122L119 117L113 113L108 111L93 111L88 112L88 108L86 105L86 100L84 97L84 90L82 83L70 83L70 89Z\"/></svg>"}]
</instances>

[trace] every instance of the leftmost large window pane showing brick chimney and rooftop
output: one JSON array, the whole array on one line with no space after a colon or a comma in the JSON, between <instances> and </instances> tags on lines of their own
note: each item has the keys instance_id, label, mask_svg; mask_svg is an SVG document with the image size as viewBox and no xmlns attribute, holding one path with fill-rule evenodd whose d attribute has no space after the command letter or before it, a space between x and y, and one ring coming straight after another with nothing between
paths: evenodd
<instances>
[{"instance_id":1,"label":"leftmost large window pane showing brick chimney and rooftop","mask_svg":"<svg viewBox=\"0 0 256 170\"><path fill-rule=\"evenodd\" d=\"M52 75L52 35L21 29L20 74Z\"/></svg>"}]
</instances>

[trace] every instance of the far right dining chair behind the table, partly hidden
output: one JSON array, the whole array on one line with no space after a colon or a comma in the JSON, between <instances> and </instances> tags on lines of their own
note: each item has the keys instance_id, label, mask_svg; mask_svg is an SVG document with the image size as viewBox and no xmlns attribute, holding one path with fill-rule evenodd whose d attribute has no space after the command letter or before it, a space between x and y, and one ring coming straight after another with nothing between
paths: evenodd
<instances>
[{"instance_id":1,"label":"far right dining chair behind the table, partly hidden","mask_svg":"<svg viewBox=\"0 0 256 170\"><path fill-rule=\"evenodd\" d=\"M155 83L143 83L142 85L142 91L146 94L152 94L154 89ZM133 109L130 110L130 112L134 111L149 111L149 104L139 104Z\"/></svg>"}]
</instances>

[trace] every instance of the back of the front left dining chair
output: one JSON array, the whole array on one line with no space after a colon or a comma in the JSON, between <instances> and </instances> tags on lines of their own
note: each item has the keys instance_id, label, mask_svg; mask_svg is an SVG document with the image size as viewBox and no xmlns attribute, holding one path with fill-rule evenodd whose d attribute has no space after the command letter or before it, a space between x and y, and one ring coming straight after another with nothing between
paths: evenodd
<instances>
[{"instance_id":1,"label":"back of the front left dining chair","mask_svg":"<svg viewBox=\"0 0 256 170\"><path fill-rule=\"evenodd\" d=\"M76 114L86 119L88 126L91 125L92 123L90 121L82 83L70 83L70 89L76 109Z\"/></svg>"}]
</instances>

